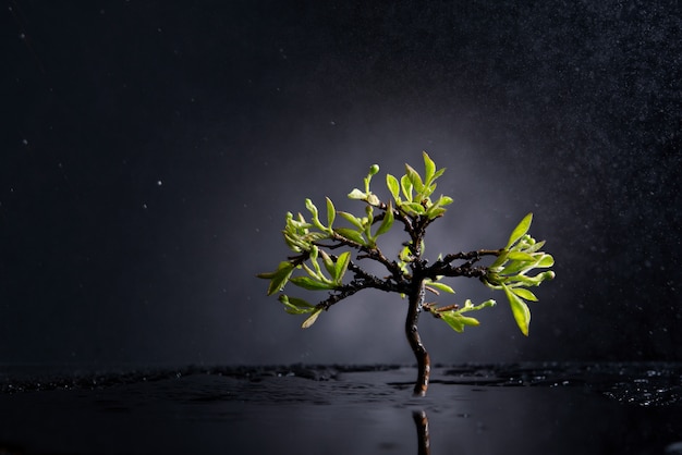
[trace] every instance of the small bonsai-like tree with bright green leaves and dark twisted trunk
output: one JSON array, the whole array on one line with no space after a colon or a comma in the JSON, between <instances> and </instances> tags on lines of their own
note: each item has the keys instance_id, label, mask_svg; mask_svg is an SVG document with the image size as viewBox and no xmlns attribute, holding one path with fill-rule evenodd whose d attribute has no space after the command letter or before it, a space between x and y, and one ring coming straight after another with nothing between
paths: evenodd
<instances>
[{"instance_id":1,"label":"small bonsai-like tree with bright green leaves and dark twisted trunk","mask_svg":"<svg viewBox=\"0 0 682 455\"><path fill-rule=\"evenodd\" d=\"M443 283L444 278L477 278L486 286L504 293L519 329L527 336L531 311L525 300L537 300L527 287L538 286L543 281L555 276L549 270L529 275L536 268L550 268L553 265L553 258L540 251L545 242L536 242L527 234L532 213L514 228L503 248L441 255L429 265L423 254L426 229L443 216L446 206L452 204L452 198L441 195L436 200L431 199L436 190L436 180L442 175L444 169L437 170L429 156L426 152L423 155L424 176L410 164L405 164L405 174L400 180L391 174L386 175L386 185L391 194L387 202L369 189L372 177L379 172L379 167L374 164L369 168L364 180L364 190L355 188L348 195L365 205L364 216L338 211L329 198L326 225L320 221L319 211L310 199L305 200L310 212L309 221L301 213L287 213L287 225L282 232L294 255L280 262L273 272L258 274L259 278L270 280L268 295L281 292L288 283L304 290L328 292L327 297L316 305L280 294L279 300L287 312L307 315L303 322L304 329L313 325L319 315L332 305L365 288L398 293L406 297L405 334L417 360L418 376L414 394L419 396L426 394L430 372L429 356L417 331L419 312L427 311L444 321L455 332L462 332L465 327L479 323L466 313L496 305L492 299L479 305L466 299L461 307L439 307L435 303L425 302L427 291L436 296L441 292L453 294L452 287ZM334 225L337 216L346 222L345 226ZM398 257L389 259L377 241L397 225L405 231L407 239ZM342 253L332 253L337 250ZM486 256L496 259L489 266L479 265ZM360 266L362 260L382 265L388 275L377 276L367 272ZM350 279L346 278L349 274Z\"/></svg>"}]
</instances>

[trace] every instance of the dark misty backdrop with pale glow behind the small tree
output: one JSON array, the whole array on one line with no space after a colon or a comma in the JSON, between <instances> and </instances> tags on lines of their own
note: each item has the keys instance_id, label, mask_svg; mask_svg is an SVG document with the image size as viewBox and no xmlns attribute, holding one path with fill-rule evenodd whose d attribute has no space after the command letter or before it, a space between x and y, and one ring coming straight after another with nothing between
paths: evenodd
<instances>
[{"instance_id":1,"label":"dark misty backdrop with pale glow behind the small tree","mask_svg":"<svg viewBox=\"0 0 682 455\"><path fill-rule=\"evenodd\" d=\"M500 305L423 320L435 361L681 358L678 1L3 5L0 361L412 362L398 296L302 331L255 274L287 211L422 150L433 257L533 211L557 260L528 339L453 281Z\"/></svg>"}]
</instances>

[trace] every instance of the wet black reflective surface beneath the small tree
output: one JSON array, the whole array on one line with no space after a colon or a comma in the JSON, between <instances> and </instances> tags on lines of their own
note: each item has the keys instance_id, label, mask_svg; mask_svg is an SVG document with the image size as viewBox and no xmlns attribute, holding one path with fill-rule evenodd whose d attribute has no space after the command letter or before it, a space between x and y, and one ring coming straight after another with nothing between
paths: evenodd
<instances>
[{"instance_id":1,"label":"wet black reflective surface beneath the small tree","mask_svg":"<svg viewBox=\"0 0 682 455\"><path fill-rule=\"evenodd\" d=\"M0 454L682 453L680 364L437 367L423 398L411 396L415 377L399 366L5 366Z\"/></svg>"}]
</instances>

